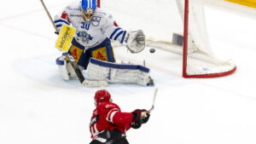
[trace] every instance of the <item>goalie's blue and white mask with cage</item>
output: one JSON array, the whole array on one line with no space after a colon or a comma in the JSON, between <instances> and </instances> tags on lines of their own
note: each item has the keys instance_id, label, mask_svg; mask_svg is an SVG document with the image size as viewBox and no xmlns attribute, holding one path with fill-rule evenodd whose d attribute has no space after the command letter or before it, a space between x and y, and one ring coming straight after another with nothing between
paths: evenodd
<instances>
[{"instance_id":1,"label":"goalie's blue and white mask with cage","mask_svg":"<svg viewBox=\"0 0 256 144\"><path fill-rule=\"evenodd\" d=\"M96 11L96 0L82 0L81 2L81 10L83 14L84 21L90 23L93 14Z\"/></svg>"}]
</instances>

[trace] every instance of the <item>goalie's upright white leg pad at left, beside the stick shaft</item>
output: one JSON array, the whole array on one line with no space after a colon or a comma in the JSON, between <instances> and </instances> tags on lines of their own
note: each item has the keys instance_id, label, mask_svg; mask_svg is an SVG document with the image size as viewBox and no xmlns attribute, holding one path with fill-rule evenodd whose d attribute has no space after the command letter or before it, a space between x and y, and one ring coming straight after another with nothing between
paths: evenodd
<instances>
[{"instance_id":1,"label":"goalie's upright white leg pad at left, beside the stick shaft","mask_svg":"<svg viewBox=\"0 0 256 144\"><path fill-rule=\"evenodd\" d=\"M56 65L61 73L61 78L65 80L78 78L76 72L73 70L73 66L71 66L70 62L67 62L65 53L56 59Z\"/></svg>"}]
</instances>

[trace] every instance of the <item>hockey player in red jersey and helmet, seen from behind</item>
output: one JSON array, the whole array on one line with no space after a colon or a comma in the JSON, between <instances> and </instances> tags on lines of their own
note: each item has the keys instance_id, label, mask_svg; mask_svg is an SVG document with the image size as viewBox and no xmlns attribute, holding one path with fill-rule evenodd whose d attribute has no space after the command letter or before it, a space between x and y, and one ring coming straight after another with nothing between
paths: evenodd
<instances>
[{"instance_id":1,"label":"hockey player in red jersey and helmet, seen from behind","mask_svg":"<svg viewBox=\"0 0 256 144\"><path fill-rule=\"evenodd\" d=\"M148 111L141 109L121 112L105 89L96 91L94 99L96 109L90 119L90 144L129 144L125 132L140 128L150 117Z\"/></svg>"}]
</instances>

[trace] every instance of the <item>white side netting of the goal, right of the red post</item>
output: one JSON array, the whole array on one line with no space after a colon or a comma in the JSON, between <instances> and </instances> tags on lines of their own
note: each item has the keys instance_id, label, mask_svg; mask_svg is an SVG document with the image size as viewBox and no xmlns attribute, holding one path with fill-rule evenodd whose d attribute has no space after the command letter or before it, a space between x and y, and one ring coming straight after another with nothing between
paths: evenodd
<instances>
[{"instance_id":1,"label":"white side netting of the goal, right of the red post","mask_svg":"<svg viewBox=\"0 0 256 144\"><path fill-rule=\"evenodd\" d=\"M180 2L177 0L177 3ZM207 36L205 12L202 1L189 0L188 20L188 49L185 75L212 75L229 74L236 66L232 60L220 60L212 53L211 44Z\"/></svg>"}]
</instances>

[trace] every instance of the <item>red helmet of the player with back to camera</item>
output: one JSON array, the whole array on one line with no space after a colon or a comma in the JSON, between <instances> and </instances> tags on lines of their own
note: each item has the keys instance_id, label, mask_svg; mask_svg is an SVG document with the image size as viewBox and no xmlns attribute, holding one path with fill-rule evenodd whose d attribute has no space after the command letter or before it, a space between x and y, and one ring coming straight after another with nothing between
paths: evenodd
<instances>
[{"instance_id":1,"label":"red helmet of the player with back to camera","mask_svg":"<svg viewBox=\"0 0 256 144\"><path fill-rule=\"evenodd\" d=\"M95 93L94 100L96 101L96 106L98 106L102 102L111 101L111 95L106 89L98 90Z\"/></svg>"}]
</instances>

